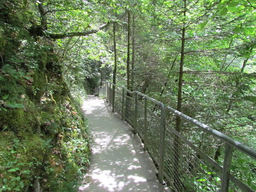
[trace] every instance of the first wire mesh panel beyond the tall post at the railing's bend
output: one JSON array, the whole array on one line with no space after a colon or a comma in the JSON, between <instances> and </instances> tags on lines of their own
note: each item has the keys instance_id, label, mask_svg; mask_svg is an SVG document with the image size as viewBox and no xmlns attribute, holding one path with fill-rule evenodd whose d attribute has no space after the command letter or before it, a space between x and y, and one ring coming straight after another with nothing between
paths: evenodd
<instances>
[{"instance_id":1,"label":"first wire mesh panel beyond the tall post at the railing's bend","mask_svg":"<svg viewBox=\"0 0 256 192\"><path fill-rule=\"evenodd\" d=\"M159 164L160 118L150 110L147 110L147 146L148 151Z\"/></svg>"}]
</instances>

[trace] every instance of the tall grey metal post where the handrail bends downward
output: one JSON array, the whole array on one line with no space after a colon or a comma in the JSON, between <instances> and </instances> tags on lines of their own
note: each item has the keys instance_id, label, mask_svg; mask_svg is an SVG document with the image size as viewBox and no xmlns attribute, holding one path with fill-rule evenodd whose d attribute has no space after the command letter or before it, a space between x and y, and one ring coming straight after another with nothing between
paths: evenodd
<instances>
[{"instance_id":1,"label":"tall grey metal post where the handrail bends downward","mask_svg":"<svg viewBox=\"0 0 256 192\"><path fill-rule=\"evenodd\" d=\"M164 106L161 106L161 119L160 119L160 157L159 157L159 181L163 184L164 172L164 148L165 148L165 111Z\"/></svg>"}]
</instances>

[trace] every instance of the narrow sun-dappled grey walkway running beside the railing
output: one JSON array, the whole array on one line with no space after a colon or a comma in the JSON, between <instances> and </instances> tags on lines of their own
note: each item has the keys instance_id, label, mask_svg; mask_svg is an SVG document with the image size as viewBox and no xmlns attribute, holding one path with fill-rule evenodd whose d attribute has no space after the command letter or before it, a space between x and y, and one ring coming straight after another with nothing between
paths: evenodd
<instances>
[{"instance_id":1,"label":"narrow sun-dappled grey walkway running beside the railing","mask_svg":"<svg viewBox=\"0 0 256 192\"><path fill-rule=\"evenodd\" d=\"M95 143L89 172L84 177L84 192L162 192L155 168L137 135L119 116L112 113L108 103L89 96L83 106Z\"/></svg>"}]
</instances>

